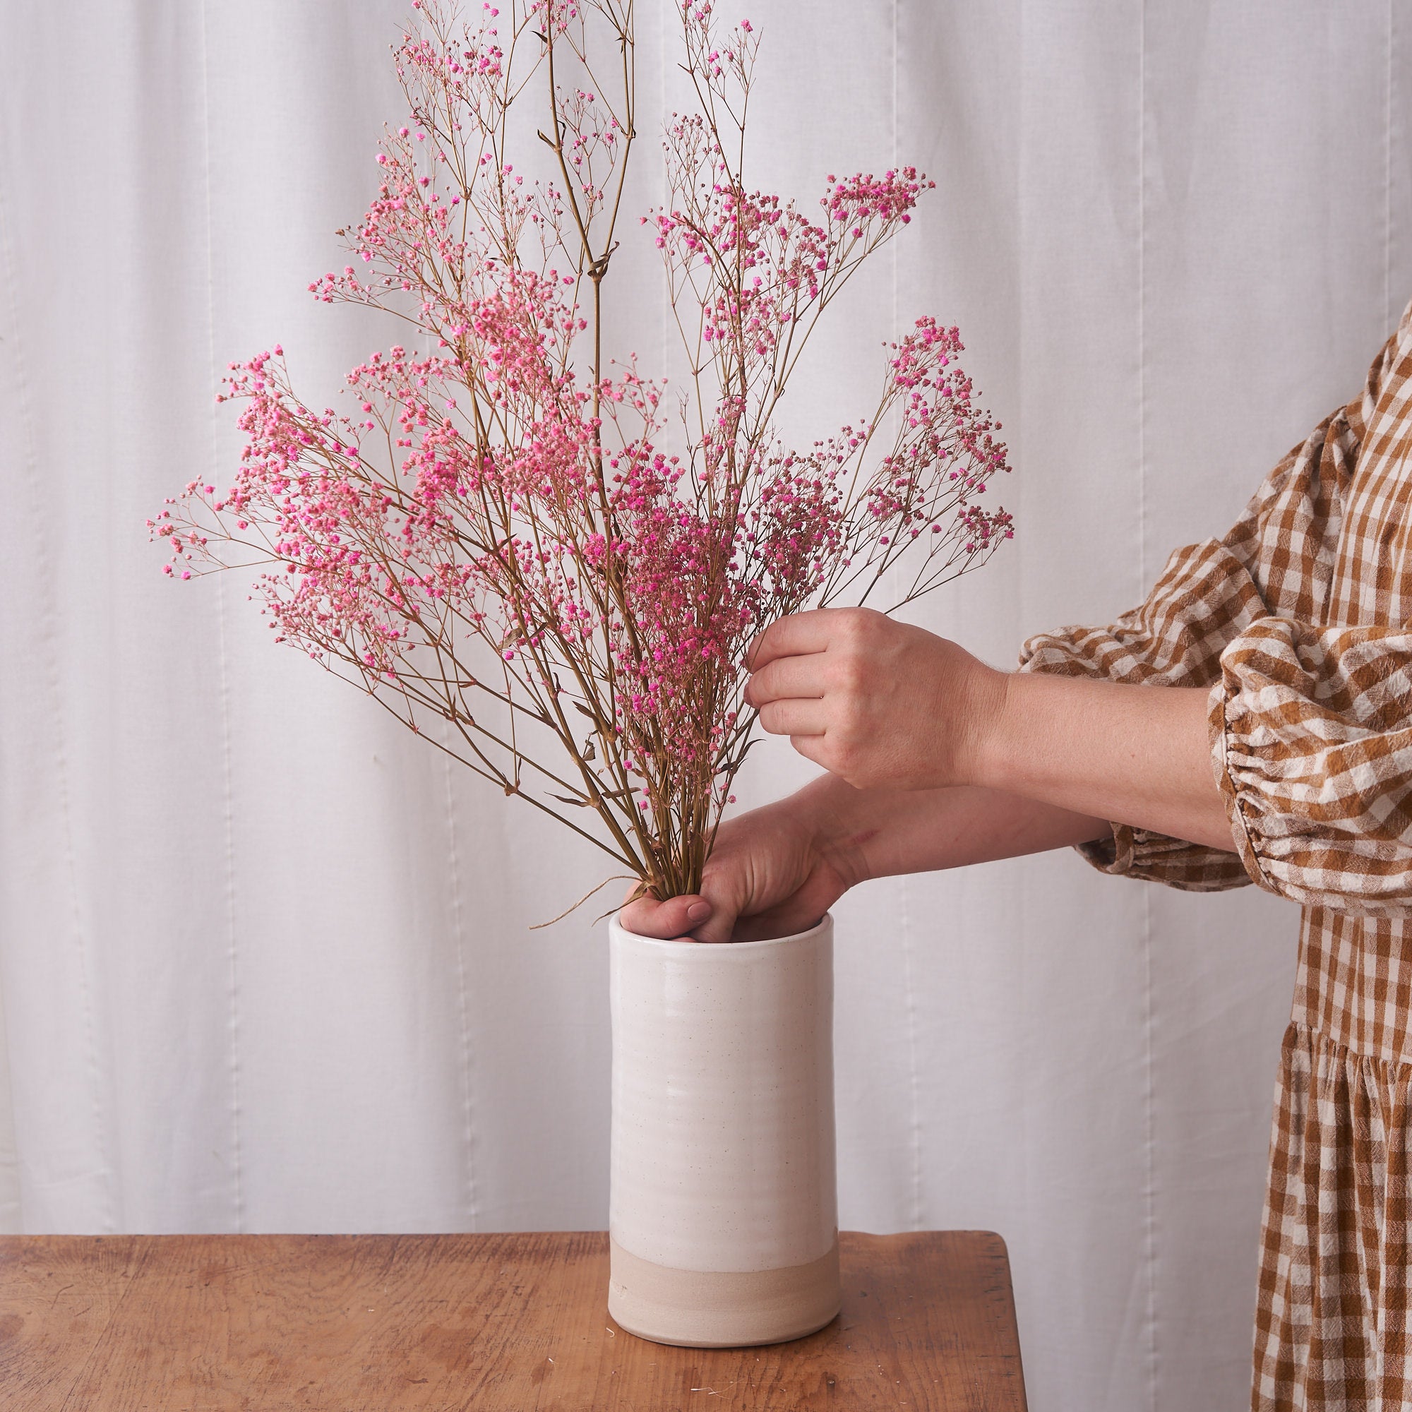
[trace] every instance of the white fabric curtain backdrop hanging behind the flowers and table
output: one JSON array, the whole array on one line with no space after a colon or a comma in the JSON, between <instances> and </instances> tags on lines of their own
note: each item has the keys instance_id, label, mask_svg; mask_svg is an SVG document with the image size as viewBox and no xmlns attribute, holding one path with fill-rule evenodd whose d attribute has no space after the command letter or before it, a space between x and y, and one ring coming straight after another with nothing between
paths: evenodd
<instances>
[{"instance_id":1,"label":"white fabric curtain backdrop hanging behind the flowers and table","mask_svg":"<svg viewBox=\"0 0 1412 1412\"><path fill-rule=\"evenodd\" d=\"M990 661L1223 532L1412 295L1406 0L740 13L760 185L936 178L791 425L863 412L918 315L960 325L1018 532L915 620ZM530 931L599 857L275 648L243 579L164 579L143 525L233 466L227 360L280 340L332 398L390 340L305 285L401 116L402 14L0 4L4 1228L606 1224L607 904ZM651 136L671 4L638 28ZM678 370L635 223L609 287L616 352ZM812 770L755 758L743 805ZM837 919L844 1227L1003 1233L1038 1412L1243 1405L1295 908L1056 853Z\"/></svg>"}]
</instances>

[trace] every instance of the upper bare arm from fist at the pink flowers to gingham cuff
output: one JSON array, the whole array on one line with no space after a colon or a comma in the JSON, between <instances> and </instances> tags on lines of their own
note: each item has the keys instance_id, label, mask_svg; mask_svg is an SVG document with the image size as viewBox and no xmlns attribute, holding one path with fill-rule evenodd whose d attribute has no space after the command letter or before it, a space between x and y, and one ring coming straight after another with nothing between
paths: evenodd
<instances>
[{"instance_id":1,"label":"upper bare arm from fist at the pink flowers to gingham cuff","mask_svg":"<svg viewBox=\"0 0 1412 1412\"><path fill-rule=\"evenodd\" d=\"M779 618L747 664L764 729L857 789L969 786L1234 847L1204 686L997 672L868 609Z\"/></svg>"}]
</instances>

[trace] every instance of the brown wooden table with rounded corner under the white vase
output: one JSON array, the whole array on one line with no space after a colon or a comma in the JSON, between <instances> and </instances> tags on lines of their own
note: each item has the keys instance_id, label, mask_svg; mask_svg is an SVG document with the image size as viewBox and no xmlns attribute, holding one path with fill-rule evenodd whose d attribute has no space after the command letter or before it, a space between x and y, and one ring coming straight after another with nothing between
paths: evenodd
<instances>
[{"instance_id":1,"label":"brown wooden table with rounded corner under the white vase","mask_svg":"<svg viewBox=\"0 0 1412 1412\"><path fill-rule=\"evenodd\" d=\"M6 1412L1024 1412L1004 1241L842 1238L843 1313L767 1348L607 1316L607 1236L0 1238Z\"/></svg>"}]
</instances>

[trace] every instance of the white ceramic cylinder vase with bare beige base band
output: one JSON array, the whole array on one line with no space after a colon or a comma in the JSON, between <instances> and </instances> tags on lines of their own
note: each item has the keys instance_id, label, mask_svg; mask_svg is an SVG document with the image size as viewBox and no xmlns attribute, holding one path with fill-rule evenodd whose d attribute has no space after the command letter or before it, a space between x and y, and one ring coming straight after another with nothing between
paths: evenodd
<instances>
[{"instance_id":1,"label":"white ceramic cylinder vase with bare beige base band","mask_svg":"<svg viewBox=\"0 0 1412 1412\"><path fill-rule=\"evenodd\" d=\"M833 918L770 942L611 923L609 1312L698 1348L839 1312Z\"/></svg>"}]
</instances>

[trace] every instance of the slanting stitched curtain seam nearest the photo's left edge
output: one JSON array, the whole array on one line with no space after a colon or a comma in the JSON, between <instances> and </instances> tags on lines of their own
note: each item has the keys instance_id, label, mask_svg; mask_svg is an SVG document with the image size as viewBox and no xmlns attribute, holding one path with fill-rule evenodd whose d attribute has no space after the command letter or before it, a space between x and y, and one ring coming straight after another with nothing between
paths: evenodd
<instances>
[{"instance_id":1,"label":"slanting stitched curtain seam nearest the photo's left edge","mask_svg":"<svg viewBox=\"0 0 1412 1412\"><path fill-rule=\"evenodd\" d=\"M40 484L38 439L34 431L34 404L30 395L30 380L25 376L24 342L20 337L20 299L18 278L16 274L14 247L10 237L10 223L4 213L4 184L0 182L0 263L4 267L4 284L7 302L10 305L10 321L14 329L14 369L16 369L16 402L20 408L21 435L25 443L25 486L31 496L32 522L42 524L44 517L38 507L44 503L42 487ZM40 534L32 537L32 552L35 561L34 582L52 583L55 579L54 565L49 562L47 537ZM117 1230L117 1200L114 1195L116 1169L109 1156L109 1142L106 1138L107 1125L103 1120L103 1104L99 1101L102 1091L102 1073L97 1062L97 1029L93 1021L93 991L89 977L89 945L92 936L85 938L83 916L79 908L78 888L78 860L73 851L73 822L69 799L69 765L68 754L64 748L64 695L59 688L58 661L58 623L54 610L54 597L48 593L40 594L34 611L37 637L44 642L47 652L45 668L41 679L44 690L49 698L48 719L54 723L54 794L59 812L59 834L64 844L64 874L68 878L68 912L72 926L73 950L78 957L79 976L79 1004L83 1017L83 1043L88 1048L88 1072L90 1084L90 1099L93 1111L93 1145L97 1149L99 1161L107 1180L103 1182L104 1216L103 1228ZM18 1145L20 1135L16 1134ZM21 1213L23 1213L21 1197Z\"/></svg>"}]
</instances>

